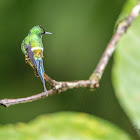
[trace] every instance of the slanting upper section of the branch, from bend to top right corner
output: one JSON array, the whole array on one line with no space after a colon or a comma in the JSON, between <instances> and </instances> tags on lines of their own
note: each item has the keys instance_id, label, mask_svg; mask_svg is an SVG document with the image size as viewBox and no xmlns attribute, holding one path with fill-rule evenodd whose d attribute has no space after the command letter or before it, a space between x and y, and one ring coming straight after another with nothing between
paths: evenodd
<instances>
[{"instance_id":1,"label":"slanting upper section of the branch, from bend to top right corner","mask_svg":"<svg viewBox=\"0 0 140 140\"><path fill-rule=\"evenodd\" d=\"M90 79L92 79L92 76L94 78L95 74L99 75L99 78L101 79L102 74L106 68L106 65L112 56L115 47L117 43L119 42L120 38L124 33L127 31L128 27L131 25L131 23L134 21L134 19L140 14L140 2L132 9L130 15L125 18L117 27L115 34L113 35L112 39L110 40L109 44L107 45L96 69L94 70L93 74L91 75Z\"/></svg>"}]
</instances>

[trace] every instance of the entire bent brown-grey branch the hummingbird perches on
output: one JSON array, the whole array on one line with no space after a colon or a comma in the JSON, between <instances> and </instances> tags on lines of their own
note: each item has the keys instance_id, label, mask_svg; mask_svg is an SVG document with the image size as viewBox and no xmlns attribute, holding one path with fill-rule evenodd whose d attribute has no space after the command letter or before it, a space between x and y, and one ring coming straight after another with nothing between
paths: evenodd
<instances>
[{"instance_id":1,"label":"entire bent brown-grey branch the hummingbird perches on","mask_svg":"<svg viewBox=\"0 0 140 140\"><path fill-rule=\"evenodd\" d=\"M131 11L130 15L125 18L117 27L115 34L113 35L112 39L110 40L109 44L107 45L96 69L90 76L89 80L80 80L80 81L72 81L72 82L57 82L53 79L51 79L47 74L44 75L45 80L50 84L52 89L48 91L48 95L53 95L55 93L61 93L68 89L73 88L80 88L80 87L88 87L88 88L97 88L99 87L99 81L102 77L102 74L106 68L107 63L110 60L110 57L112 56L115 47L117 43L119 42L122 35L125 34L125 32L128 30L131 23L134 21L134 19L140 14L140 3L138 3ZM27 103L27 102L33 102L42 98L47 97L45 92L42 92L40 94L36 94L30 97L25 98L18 98L18 99L2 99L0 100L0 105L3 105L5 107L20 104L20 103Z\"/></svg>"}]
</instances>

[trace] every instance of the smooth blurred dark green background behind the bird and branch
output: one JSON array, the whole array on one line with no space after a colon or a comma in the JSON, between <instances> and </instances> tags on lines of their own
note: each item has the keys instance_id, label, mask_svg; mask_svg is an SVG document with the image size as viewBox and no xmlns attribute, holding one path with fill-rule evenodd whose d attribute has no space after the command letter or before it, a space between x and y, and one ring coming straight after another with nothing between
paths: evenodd
<instances>
[{"instance_id":1,"label":"smooth blurred dark green background behind the bird and branch","mask_svg":"<svg viewBox=\"0 0 140 140\"><path fill-rule=\"evenodd\" d=\"M123 0L1 0L0 98L26 97L43 91L41 80L24 61L20 46L29 30L42 25L44 67L55 80L87 79L96 67L125 1ZM74 89L33 103L0 107L0 123L26 122L58 111L87 112L125 130L131 125L111 83L110 60L100 88Z\"/></svg>"}]
</instances>

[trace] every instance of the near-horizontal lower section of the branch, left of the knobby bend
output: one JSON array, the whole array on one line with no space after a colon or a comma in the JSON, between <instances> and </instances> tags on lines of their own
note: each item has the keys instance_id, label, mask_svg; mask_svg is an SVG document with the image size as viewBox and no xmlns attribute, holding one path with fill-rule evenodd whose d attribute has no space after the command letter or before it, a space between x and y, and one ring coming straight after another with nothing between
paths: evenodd
<instances>
[{"instance_id":1,"label":"near-horizontal lower section of the branch, left of the knobby bend","mask_svg":"<svg viewBox=\"0 0 140 140\"><path fill-rule=\"evenodd\" d=\"M72 88L80 88L80 87L96 88L97 86L98 84L97 84L97 81L95 80L92 80L92 81L81 80L81 81L75 81L75 82L57 82L55 89L50 89L48 91L48 95L50 96L55 93L61 93ZM2 99L0 100L0 105L8 107L15 104L33 102L33 101L36 101L45 97L47 97L46 92L42 92L40 94L36 94L36 95L25 97L25 98Z\"/></svg>"}]
</instances>

